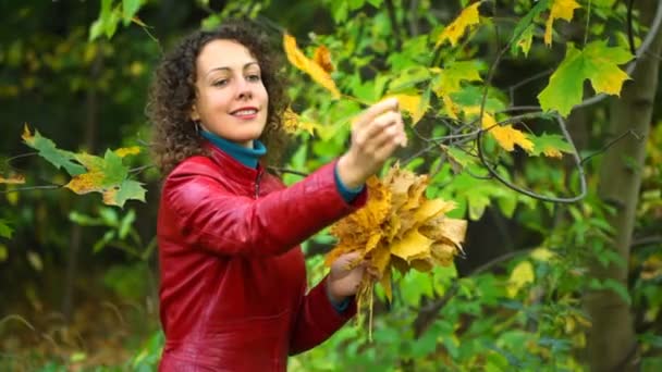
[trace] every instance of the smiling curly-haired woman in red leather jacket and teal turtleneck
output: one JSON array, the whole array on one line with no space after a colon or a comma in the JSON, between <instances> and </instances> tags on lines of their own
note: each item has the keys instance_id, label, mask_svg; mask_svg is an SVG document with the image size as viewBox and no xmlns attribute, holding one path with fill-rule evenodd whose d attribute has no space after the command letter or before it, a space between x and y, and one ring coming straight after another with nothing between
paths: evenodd
<instances>
[{"instance_id":1,"label":"smiling curly-haired woman in red leather jacket and teal turtleneck","mask_svg":"<svg viewBox=\"0 0 662 372\"><path fill-rule=\"evenodd\" d=\"M365 203L365 181L406 142L397 101L366 110L346 153L285 188L260 162L279 145L277 67L263 38L234 23L188 36L157 71L161 371L282 371L356 312L357 257L306 294L298 244Z\"/></svg>"}]
</instances>

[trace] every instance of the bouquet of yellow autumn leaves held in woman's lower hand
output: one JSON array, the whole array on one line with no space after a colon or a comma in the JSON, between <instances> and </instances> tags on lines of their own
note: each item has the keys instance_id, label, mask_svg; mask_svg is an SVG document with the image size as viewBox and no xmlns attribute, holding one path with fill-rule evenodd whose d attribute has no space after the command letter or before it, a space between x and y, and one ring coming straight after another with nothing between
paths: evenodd
<instances>
[{"instance_id":1,"label":"bouquet of yellow autumn leaves held in woman's lower hand","mask_svg":"<svg viewBox=\"0 0 662 372\"><path fill-rule=\"evenodd\" d=\"M410 269L428 272L434 265L450 265L456 255L464 253L462 243L467 221L446 218L455 203L428 199L425 196L428 182L427 175L416 175L396 164L383 181L370 177L366 183L369 195L366 206L331 227L339 243L327 255L327 265L353 251L360 253L356 264L367 262L356 300L359 315L364 307L369 309L370 336L372 288L377 281L391 301L392 268L402 274Z\"/></svg>"}]
</instances>

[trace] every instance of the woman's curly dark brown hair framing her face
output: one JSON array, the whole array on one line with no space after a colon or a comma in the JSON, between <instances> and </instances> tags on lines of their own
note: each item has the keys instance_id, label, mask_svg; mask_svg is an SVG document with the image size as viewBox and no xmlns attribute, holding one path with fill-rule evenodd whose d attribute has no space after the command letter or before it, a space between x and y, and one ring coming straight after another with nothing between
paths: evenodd
<instances>
[{"instance_id":1,"label":"woman's curly dark brown hair framing her face","mask_svg":"<svg viewBox=\"0 0 662 372\"><path fill-rule=\"evenodd\" d=\"M196 60L203 48L217 39L235 40L257 59L269 95L267 124L259 140L269 149L267 162L279 160L285 146L282 113L286 108L284 77L279 72L281 54L266 34L248 21L232 21L211 30L197 30L185 37L159 64L149 88L147 116L154 125L152 153L162 175L182 160L208 154L203 137L191 120L196 99Z\"/></svg>"}]
</instances>

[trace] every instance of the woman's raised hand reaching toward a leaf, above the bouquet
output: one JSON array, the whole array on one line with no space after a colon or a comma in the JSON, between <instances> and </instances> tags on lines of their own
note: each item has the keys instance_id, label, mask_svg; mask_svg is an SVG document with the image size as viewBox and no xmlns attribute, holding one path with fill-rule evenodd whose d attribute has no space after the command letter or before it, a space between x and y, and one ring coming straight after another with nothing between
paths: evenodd
<instances>
[{"instance_id":1,"label":"woman's raised hand reaching toward a leaf, above the bouquet","mask_svg":"<svg viewBox=\"0 0 662 372\"><path fill-rule=\"evenodd\" d=\"M338 175L350 188L377 173L399 146L407 145L397 99L372 104L353 122L352 145L338 161Z\"/></svg>"}]
</instances>

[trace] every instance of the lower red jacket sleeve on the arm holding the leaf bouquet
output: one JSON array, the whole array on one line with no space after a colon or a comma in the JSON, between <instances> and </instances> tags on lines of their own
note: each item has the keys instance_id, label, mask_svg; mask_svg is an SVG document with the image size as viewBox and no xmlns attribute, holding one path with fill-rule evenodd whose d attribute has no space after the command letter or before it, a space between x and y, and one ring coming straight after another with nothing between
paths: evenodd
<instances>
[{"instance_id":1,"label":"lower red jacket sleeve on the arm holding the leaf bouquet","mask_svg":"<svg viewBox=\"0 0 662 372\"><path fill-rule=\"evenodd\" d=\"M290 355L299 354L323 343L356 314L356 300L339 313L327 296L327 277L302 301L290 340Z\"/></svg>"}]
</instances>

